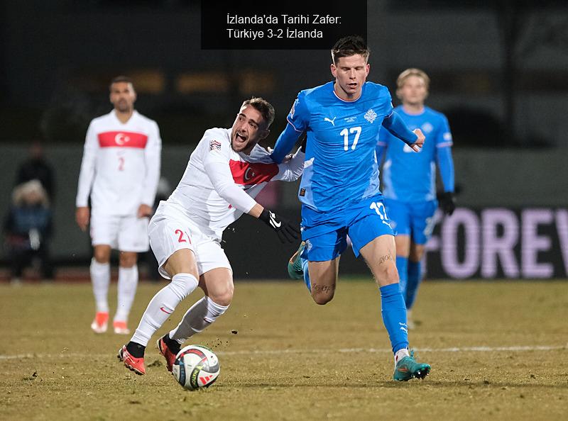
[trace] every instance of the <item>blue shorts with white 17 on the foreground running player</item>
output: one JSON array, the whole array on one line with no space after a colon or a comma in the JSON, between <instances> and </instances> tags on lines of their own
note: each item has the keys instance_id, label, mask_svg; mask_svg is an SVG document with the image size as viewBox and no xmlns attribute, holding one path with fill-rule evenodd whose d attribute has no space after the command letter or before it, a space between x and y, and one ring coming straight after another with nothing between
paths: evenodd
<instances>
[{"instance_id":1,"label":"blue shorts with white 17 on the foreground running player","mask_svg":"<svg viewBox=\"0 0 568 421\"><path fill-rule=\"evenodd\" d=\"M347 248L347 235L356 257L362 247L381 235L394 235L386 213L383 196L373 196L356 205L329 213L327 220L318 215L317 225L309 225L314 213L302 208L302 240L306 247L302 258L310 262L326 262L342 254Z\"/></svg>"}]
</instances>

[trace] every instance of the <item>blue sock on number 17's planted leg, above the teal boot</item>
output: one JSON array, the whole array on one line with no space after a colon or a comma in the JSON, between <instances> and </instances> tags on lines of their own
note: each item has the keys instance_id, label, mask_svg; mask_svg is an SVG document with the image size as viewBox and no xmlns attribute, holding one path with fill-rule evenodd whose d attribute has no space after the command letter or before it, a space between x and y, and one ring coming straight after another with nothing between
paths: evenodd
<instances>
[{"instance_id":1,"label":"blue sock on number 17's planted leg, above the teal boot","mask_svg":"<svg viewBox=\"0 0 568 421\"><path fill-rule=\"evenodd\" d=\"M381 307L383 323L391 339L393 352L408 348L408 327L406 326L406 306L403 293L398 284L381 286Z\"/></svg>"}]
</instances>

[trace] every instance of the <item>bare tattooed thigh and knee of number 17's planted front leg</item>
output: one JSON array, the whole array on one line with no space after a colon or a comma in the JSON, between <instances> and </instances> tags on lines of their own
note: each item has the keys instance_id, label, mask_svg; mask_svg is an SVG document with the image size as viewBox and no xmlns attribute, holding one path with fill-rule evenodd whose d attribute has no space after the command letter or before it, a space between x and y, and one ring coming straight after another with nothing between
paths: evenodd
<instances>
[{"instance_id":1,"label":"bare tattooed thigh and knee of number 17's planted front leg","mask_svg":"<svg viewBox=\"0 0 568 421\"><path fill-rule=\"evenodd\" d=\"M396 270L396 247L393 235L381 235L360 250L371 269L378 286L398 284Z\"/></svg>"}]
</instances>

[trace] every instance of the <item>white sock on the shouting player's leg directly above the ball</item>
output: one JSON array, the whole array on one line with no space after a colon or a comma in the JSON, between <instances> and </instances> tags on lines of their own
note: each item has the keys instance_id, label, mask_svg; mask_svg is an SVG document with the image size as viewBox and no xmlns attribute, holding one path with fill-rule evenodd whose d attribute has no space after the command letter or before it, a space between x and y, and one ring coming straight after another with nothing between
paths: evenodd
<instances>
[{"instance_id":1,"label":"white sock on the shouting player's leg directly above the ball","mask_svg":"<svg viewBox=\"0 0 568 421\"><path fill-rule=\"evenodd\" d=\"M229 305L219 305L214 303L211 298L203 297L187 310L178 327L170 332L170 338L182 344L188 337L202 332L207 326L211 325L220 315L225 313L227 308L229 308Z\"/></svg>"}]
</instances>

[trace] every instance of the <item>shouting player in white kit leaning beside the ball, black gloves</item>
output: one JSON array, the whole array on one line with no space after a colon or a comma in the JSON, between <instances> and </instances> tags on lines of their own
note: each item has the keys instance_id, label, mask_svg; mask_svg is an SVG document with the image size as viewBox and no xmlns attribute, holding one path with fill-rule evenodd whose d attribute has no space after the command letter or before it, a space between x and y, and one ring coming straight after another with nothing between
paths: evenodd
<instances>
[{"instance_id":1,"label":"shouting player in white kit leaning beside the ball, black gloves","mask_svg":"<svg viewBox=\"0 0 568 421\"><path fill-rule=\"evenodd\" d=\"M170 284L152 298L119 360L145 374L144 351L152 335L176 306L199 286L205 296L187 310L178 327L158 339L169 371L180 345L225 313L233 298L233 272L220 242L225 228L243 213L274 230L280 241L293 242L299 227L263 208L254 197L268 181L295 181L302 174L304 152L282 164L257 145L268 136L274 108L261 98L244 101L232 128L205 131L192 152L180 184L160 202L150 221L150 245L159 271Z\"/></svg>"}]
</instances>

